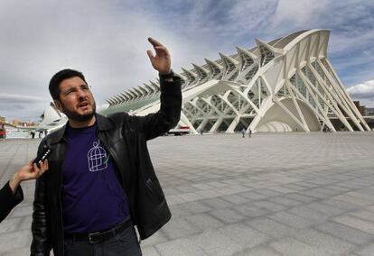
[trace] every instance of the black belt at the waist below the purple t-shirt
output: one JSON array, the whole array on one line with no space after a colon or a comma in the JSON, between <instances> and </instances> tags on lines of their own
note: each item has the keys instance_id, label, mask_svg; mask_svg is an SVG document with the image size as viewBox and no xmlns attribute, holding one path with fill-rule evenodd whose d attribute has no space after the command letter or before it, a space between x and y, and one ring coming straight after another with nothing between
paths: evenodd
<instances>
[{"instance_id":1,"label":"black belt at the waist below the purple t-shirt","mask_svg":"<svg viewBox=\"0 0 374 256\"><path fill-rule=\"evenodd\" d=\"M65 233L65 239L72 239L74 241L82 241L89 243L104 242L108 239L115 237L118 233L123 232L127 227L131 226L131 219L115 225L113 228L95 233Z\"/></svg>"}]
</instances>

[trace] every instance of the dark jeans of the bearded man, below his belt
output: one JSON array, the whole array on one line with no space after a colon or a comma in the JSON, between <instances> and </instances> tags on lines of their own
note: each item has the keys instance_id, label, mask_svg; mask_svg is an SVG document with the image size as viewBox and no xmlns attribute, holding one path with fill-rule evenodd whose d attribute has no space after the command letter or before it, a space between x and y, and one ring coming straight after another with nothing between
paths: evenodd
<instances>
[{"instance_id":1,"label":"dark jeans of the bearded man, below his belt","mask_svg":"<svg viewBox=\"0 0 374 256\"><path fill-rule=\"evenodd\" d=\"M64 250L65 256L142 255L133 226L127 227L122 233L104 242L89 243L67 239Z\"/></svg>"}]
</instances>

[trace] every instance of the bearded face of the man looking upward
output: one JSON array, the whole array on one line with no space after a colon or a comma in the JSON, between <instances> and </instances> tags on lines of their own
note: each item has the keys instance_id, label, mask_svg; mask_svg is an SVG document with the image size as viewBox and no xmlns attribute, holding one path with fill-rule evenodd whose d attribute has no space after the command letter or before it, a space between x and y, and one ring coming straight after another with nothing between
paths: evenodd
<instances>
[{"instance_id":1,"label":"bearded face of the man looking upward","mask_svg":"<svg viewBox=\"0 0 374 256\"><path fill-rule=\"evenodd\" d=\"M55 100L57 108L76 122L87 122L96 113L95 99L89 86L79 77L62 80L60 100Z\"/></svg>"}]
</instances>

